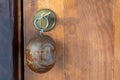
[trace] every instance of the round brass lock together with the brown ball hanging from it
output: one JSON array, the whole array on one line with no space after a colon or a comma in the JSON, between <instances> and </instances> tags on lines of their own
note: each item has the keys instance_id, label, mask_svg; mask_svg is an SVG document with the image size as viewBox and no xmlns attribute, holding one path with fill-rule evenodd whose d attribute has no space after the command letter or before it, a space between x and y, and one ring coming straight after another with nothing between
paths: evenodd
<instances>
[{"instance_id":1,"label":"round brass lock together with the brown ball hanging from it","mask_svg":"<svg viewBox=\"0 0 120 80\"><path fill-rule=\"evenodd\" d=\"M44 35L54 28L55 22L55 13L49 9L38 11L34 17L34 26L40 36L31 39L25 50L27 65L34 72L47 72L55 64L56 44L50 36Z\"/></svg>"}]
</instances>

